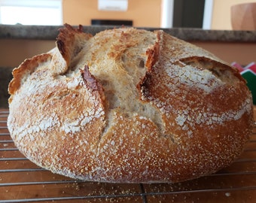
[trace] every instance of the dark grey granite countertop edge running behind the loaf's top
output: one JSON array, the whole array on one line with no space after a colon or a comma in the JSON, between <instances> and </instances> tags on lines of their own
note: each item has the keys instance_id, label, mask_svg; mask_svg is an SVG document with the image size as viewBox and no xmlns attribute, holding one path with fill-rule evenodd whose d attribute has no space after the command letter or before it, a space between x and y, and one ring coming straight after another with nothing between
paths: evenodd
<instances>
[{"instance_id":1,"label":"dark grey granite countertop edge running behind the loaf's top","mask_svg":"<svg viewBox=\"0 0 256 203\"><path fill-rule=\"evenodd\" d=\"M0 39L55 40L62 26L0 25ZM95 35L113 26L84 26L84 32ZM141 28L155 30L159 28ZM188 28L163 29L165 32L185 41L256 42L256 31L204 30Z\"/></svg>"}]
</instances>

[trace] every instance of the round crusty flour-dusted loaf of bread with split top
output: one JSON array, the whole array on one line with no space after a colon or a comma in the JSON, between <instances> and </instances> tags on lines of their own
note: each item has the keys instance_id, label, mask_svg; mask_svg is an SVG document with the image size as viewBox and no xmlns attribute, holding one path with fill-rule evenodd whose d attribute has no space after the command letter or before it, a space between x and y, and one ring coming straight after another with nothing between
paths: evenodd
<instances>
[{"instance_id":1,"label":"round crusty flour-dusted loaf of bread with split top","mask_svg":"<svg viewBox=\"0 0 256 203\"><path fill-rule=\"evenodd\" d=\"M54 173L119 183L178 182L230 165L251 133L251 93L212 53L163 31L95 36L66 25L9 84L8 129Z\"/></svg>"}]
</instances>

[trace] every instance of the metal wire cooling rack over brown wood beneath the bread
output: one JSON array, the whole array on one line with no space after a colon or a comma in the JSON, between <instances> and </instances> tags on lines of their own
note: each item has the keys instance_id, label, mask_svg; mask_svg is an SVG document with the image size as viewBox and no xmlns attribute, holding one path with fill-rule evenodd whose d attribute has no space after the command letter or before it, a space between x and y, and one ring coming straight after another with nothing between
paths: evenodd
<instances>
[{"instance_id":1,"label":"metal wire cooling rack over brown wood beneath the bread","mask_svg":"<svg viewBox=\"0 0 256 203\"><path fill-rule=\"evenodd\" d=\"M0 202L256 202L256 126L232 165L184 183L117 184L73 180L39 168L14 146L0 109Z\"/></svg>"}]
</instances>

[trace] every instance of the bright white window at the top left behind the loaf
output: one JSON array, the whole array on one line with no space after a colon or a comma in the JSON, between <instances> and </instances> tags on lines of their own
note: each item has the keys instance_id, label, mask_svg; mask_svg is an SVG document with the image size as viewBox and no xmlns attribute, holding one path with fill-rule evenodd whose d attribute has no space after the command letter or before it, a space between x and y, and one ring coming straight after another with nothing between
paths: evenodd
<instances>
[{"instance_id":1,"label":"bright white window at the top left behind the loaf","mask_svg":"<svg viewBox=\"0 0 256 203\"><path fill-rule=\"evenodd\" d=\"M0 23L61 25L62 0L0 0Z\"/></svg>"}]
</instances>

